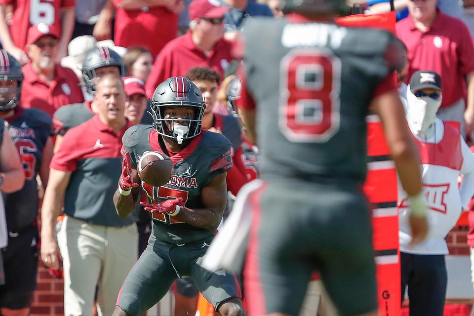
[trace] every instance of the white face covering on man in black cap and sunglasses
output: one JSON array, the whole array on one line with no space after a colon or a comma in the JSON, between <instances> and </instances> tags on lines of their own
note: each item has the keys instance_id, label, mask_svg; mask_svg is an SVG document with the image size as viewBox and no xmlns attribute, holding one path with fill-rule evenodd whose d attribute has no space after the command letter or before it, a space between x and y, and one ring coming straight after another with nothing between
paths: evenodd
<instances>
[{"instance_id":1,"label":"white face covering on man in black cap and sunglasses","mask_svg":"<svg viewBox=\"0 0 474 316\"><path fill-rule=\"evenodd\" d=\"M416 135L423 133L425 136L430 136L428 135L430 133L428 130L436 120L436 112L438 112L439 106L441 105L442 95L440 95L437 100L429 96L416 97L408 86L406 99L406 118L411 131Z\"/></svg>"}]
</instances>

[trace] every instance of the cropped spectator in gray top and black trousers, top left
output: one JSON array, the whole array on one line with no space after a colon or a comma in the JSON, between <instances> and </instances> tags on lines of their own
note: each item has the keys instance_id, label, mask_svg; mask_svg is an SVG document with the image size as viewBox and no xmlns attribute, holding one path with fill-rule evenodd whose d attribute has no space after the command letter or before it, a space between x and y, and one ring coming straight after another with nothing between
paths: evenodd
<instances>
[{"instance_id":1,"label":"cropped spectator in gray top and black trousers, top left","mask_svg":"<svg viewBox=\"0 0 474 316\"><path fill-rule=\"evenodd\" d=\"M109 0L80 0L76 4L76 22L72 38L92 35L104 5ZM113 37L111 37L112 39Z\"/></svg>"}]
</instances>

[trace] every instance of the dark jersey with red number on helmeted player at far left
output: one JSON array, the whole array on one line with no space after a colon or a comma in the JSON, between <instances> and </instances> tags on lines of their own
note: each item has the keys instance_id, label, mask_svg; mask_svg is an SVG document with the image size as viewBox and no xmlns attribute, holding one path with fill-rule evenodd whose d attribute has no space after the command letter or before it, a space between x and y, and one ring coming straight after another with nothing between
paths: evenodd
<instances>
[{"instance_id":1,"label":"dark jersey with red number on helmeted player at far left","mask_svg":"<svg viewBox=\"0 0 474 316\"><path fill-rule=\"evenodd\" d=\"M8 230L20 231L36 221L38 215L37 172L41 167L43 149L50 136L51 118L38 109L18 107L13 117L7 118L8 133L20 154L25 185L20 191L3 194Z\"/></svg>"}]
</instances>

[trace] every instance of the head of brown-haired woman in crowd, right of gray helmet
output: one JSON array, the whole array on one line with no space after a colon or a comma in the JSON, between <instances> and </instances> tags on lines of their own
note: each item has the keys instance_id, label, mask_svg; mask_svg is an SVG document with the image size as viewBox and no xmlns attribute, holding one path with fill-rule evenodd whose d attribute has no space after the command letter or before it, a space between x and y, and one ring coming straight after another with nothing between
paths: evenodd
<instances>
[{"instance_id":1,"label":"head of brown-haired woman in crowd, right of gray helmet","mask_svg":"<svg viewBox=\"0 0 474 316\"><path fill-rule=\"evenodd\" d=\"M140 46L129 47L123 55L123 62L127 68L127 76L147 82L153 69L153 57L148 49Z\"/></svg>"}]
</instances>

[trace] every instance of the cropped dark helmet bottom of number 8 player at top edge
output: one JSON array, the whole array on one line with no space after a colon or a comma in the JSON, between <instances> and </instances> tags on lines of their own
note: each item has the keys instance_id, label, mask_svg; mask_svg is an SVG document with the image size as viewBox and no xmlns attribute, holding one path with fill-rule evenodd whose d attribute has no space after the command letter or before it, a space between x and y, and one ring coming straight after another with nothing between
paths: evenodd
<instances>
[{"instance_id":1,"label":"cropped dark helmet bottom of number 8 player at top edge","mask_svg":"<svg viewBox=\"0 0 474 316\"><path fill-rule=\"evenodd\" d=\"M286 0L283 5L284 13L349 13L346 0Z\"/></svg>"}]
</instances>

